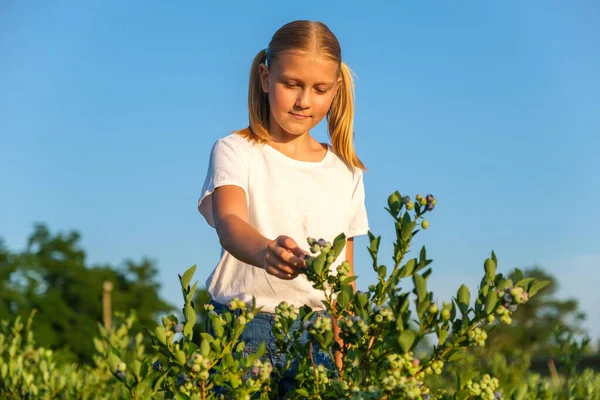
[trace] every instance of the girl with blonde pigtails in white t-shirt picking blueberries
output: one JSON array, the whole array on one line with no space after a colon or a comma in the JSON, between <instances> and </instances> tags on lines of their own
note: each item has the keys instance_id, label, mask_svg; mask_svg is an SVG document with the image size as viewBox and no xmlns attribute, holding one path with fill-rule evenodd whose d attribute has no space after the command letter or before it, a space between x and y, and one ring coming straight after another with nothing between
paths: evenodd
<instances>
[{"instance_id":1,"label":"girl with blonde pigtails in white t-shirt picking blueberries","mask_svg":"<svg viewBox=\"0 0 600 400\"><path fill-rule=\"evenodd\" d=\"M288 23L252 63L250 125L217 140L211 151L198 210L223 249L206 282L208 293L217 312L234 297L248 304L256 298L262 312L241 340L246 353L265 341L273 365L284 357L274 352L275 307L286 301L324 310L322 292L299 274L306 238L332 240L343 232L348 241L337 267L343 260L352 264L353 237L368 232L365 167L352 141L353 94L329 28ZM310 135L325 117L331 145ZM318 349L315 358L332 366Z\"/></svg>"}]
</instances>

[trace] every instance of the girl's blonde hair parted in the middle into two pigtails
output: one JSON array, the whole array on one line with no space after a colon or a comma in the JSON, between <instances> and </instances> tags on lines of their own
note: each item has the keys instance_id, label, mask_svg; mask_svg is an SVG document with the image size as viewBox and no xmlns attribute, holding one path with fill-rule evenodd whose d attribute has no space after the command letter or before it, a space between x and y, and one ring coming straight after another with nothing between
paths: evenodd
<instances>
[{"instance_id":1,"label":"girl's blonde hair parted in the middle into two pigtails","mask_svg":"<svg viewBox=\"0 0 600 400\"><path fill-rule=\"evenodd\" d=\"M263 92L260 65L272 67L279 53L286 50L312 50L337 63L342 78L327 113L327 130L333 151L350 168L365 170L354 150L354 80L352 71L342 61L342 50L335 35L322 22L293 21L273 35L269 46L258 52L250 68L248 112L250 125L236 133L258 143L266 143L269 135L269 97Z\"/></svg>"}]
</instances>

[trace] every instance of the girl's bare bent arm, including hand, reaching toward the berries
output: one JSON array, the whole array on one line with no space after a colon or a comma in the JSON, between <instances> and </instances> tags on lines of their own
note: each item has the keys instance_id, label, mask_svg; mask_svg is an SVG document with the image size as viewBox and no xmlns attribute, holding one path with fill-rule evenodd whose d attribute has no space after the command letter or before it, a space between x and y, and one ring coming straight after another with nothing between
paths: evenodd
<instances>
[{"instance_id":1,"label":"girl's bare bent arm, including hand, reaching toward the berries","mask_svg":"<svg viewBox=\"0 0 600 400\"><path fill-rule=\"evenodd\" d=\"M220 186L212 196L215 229L225 250L241 262L264 268L279 278L293 279L298 275L297 269L304 266L304 252L291 238L266 238L248 223L244 189Z\"/></svg>"}]
</instances>

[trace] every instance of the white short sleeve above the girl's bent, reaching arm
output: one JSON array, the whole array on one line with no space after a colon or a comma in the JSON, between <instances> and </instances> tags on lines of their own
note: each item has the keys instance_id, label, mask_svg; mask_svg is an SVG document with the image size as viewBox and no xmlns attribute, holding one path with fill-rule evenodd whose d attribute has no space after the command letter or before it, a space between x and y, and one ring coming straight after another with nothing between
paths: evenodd
<instances>
[{"instance_id":1,"label":"white short sleeve above the girl's bent, reaching arm","mask_svg":"<svg viewBox=\"0 0 600 400\"><path fill-rule=\"evenodd\" d=\"M208 171L198 199L198 211L213 228L212 193L225 185L239 186L248 193L247 157L238 142L232 137L219 139L210 152Z\"/></svg>"}]
</instances>

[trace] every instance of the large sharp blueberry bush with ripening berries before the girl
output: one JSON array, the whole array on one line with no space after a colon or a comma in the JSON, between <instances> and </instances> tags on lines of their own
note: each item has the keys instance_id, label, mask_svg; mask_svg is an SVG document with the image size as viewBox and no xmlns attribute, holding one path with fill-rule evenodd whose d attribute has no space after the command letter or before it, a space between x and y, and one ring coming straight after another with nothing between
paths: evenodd
<instances>
[{"instance_id":1,"label":"large sharp blueberry bush with ripening berries before the girl","mask_svg":"<svg viewBox=\"0 0 600 400\"><path fill-rule=\"evenodd\" d=\"M126 364L109 349L111 372L130 391L150 376L153 393L164 393L166 398L501 398L498 380L487 374L459 379L452 392L431 391L427 378L441 374L465 349L485 346L490 328L496 323L510 325L516 308L549 282L505 278L497 273L498 260L492 252L484 262L484 276L473 298L462 285L453 299L437 304L427 289L432 260L427 258L425 247L417 258L407 258L415 235L429 227L425 217L434 211L436 203L433 195L417 195L413 201L395 192L388 198L386 209L396 232L393 264L388 269L380 263L381 238L369 233L368 251L378 281L366 292L354 291L356 276L348 275L347 261L334 265L346 243L343 234L332 241L307 238L311 255L306 259L306 277L323 292L324 307L331 318L315 318L307 306L281 303L273 333L278 351L287 354L283 365L270 365L263 357L264 346L253 355L242 355L244 343L239 338L260 308L239 299L233 299L230 312L224 314L206 306L213 334L202 333L196 344L192 337L196 323L192 296L197 282L191 285L194 266L180 276L183 320L174 315L165 317L162 326L151 333L158 356L146 360L146 368L136 367L141 374L136 378L137 372L128 372ZM406 283L411 290L403 289ZM292 329L296 320L302 322L300 329ZM308 343L301 340L305 333ZM437 339L433 351L425 358L415 358L416 346L428 335ZM317 365L312 357L316 345L331 359L341 355L341 365ZM279 393L277 381L293 363L296 386Z\"/></svg>"}]
</instances>

